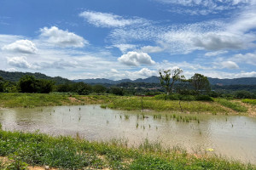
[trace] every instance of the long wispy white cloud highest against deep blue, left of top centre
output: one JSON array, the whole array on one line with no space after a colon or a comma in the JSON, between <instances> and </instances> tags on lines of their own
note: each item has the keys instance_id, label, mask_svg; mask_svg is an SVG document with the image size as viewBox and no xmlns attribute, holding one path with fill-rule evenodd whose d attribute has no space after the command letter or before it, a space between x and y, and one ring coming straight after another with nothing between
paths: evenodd
<instances>
[{"instance_id":1,"label":"long wispy white cloud highest against deep blue, left of top centre","mask_svg":"<svg viewBox=\"0 0 256 170\"><path fill-rule=\"evenodd\" d=\"M100 13L94 11L84 11L79 14L87 20L91 25L102 27L123 27L135 24L145 24L146 20L140 18L124 19L116 14Z\"/></svg>"}]
</instances>

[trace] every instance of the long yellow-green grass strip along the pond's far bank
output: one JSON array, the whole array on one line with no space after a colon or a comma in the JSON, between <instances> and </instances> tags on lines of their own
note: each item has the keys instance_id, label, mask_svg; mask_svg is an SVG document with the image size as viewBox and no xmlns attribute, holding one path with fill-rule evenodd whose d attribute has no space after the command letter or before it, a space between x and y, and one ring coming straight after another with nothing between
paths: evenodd
<instances>
[{"instance_id":1,"label":"long yellow-green grass strip along the pond's far bank","mask_svg":"<svg viewBox=\"0 0 256 170\"><path fill-rule=\"evenodd\" d=\"M68 94L0 94L0 107L25 107L54 105L87 105L98 104L102 108L119 109L126 111L178 111L187 113L212 113L216 115L229 114L228 107L237 112L246 112L247 108L238 102L227 99L214 99L215 101L179 101L155 99L151 97L125 97L114 95L68 95ZM244 102L254 102L246 99ZM221 107L220 105L224 105Z\"/></svg>"}]
</instances>

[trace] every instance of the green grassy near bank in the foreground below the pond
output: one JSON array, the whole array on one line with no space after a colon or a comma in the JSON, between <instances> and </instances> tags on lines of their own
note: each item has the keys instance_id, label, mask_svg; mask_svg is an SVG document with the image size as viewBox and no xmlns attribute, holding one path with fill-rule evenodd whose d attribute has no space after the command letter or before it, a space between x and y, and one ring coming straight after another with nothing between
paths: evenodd
<instances>
[{"instance_id":1,"label":"green grassy near bank in the foreground below the pond","mask_svg":"<svg viewBox=\"0 0 256 170\"><path fill-rule=\"evenodd\" d=\"M219 156L190 155L178 147L163 149L160 142L150 143L148 140L138 148L127 148L126 142L121 140L89 142L2 130L0 156L13 159L10 164L20 167L28 164L61 169L256 169L254 165ZM3 169L3 162L1 166Z\"/></svg>"}]
</instances>

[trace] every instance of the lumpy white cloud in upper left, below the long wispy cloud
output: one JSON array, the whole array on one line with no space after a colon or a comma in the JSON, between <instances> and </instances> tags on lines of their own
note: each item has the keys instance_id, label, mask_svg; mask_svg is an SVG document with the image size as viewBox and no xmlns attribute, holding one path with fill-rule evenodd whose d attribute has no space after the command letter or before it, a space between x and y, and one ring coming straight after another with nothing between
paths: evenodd
<instances>
[{"instance_id":1,"label":"lumpy white cloud in upper left, below the long wispy cloud","mask_svg":"<svg viewBox=\"0 0 256 170\"><path fill-rule=\"evenodd\" d=\"M44 27L40 29L40 31L41 37L47 38L47 42L59 47L82 48L84 47L84 44L88 44L83 37L80 37L73 32L61 30L56 26L50 28Z\"/></svg>"}]
</instances>

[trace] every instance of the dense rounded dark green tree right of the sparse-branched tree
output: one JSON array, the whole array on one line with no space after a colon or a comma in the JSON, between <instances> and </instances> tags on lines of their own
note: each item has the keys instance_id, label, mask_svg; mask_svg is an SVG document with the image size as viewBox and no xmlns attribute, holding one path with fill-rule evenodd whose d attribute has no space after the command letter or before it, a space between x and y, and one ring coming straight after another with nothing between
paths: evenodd
<instances>
[{"instance_id":1,"label":"dense rounded dark green tree right of the sparse-branched tree","mask_svg":"<svg viewBox=\"0 0 256 170\"><path fill-rule=\"evenodd\" d=\"M195 73L193 77L189 80L191 85L195 88L195 93L199 94L199 92L202 90L210 91L210 82L208 81L208 78L199 74Z\"/></svg>"}]
</instances>

